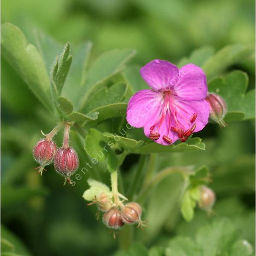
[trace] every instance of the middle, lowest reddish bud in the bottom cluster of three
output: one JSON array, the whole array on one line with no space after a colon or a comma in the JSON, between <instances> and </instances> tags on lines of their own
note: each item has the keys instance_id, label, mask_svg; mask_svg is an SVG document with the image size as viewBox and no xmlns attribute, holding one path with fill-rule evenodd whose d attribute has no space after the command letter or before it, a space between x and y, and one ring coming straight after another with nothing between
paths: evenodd
<instances>
[{"instance_id":1,"label":"middle, lowest reddish bud in the bottom cluster of three","mask_svg":"<svg viewBox=\"0 0 256 256\"><path fill-rule=\"evenodd\" d=\"M106 224L107 227L113 229L119 229L124 225L124 222L121 218L121 212L118 208L114 207L105 212L103 215L103 222Z\"/></svg>"}]
</instances>

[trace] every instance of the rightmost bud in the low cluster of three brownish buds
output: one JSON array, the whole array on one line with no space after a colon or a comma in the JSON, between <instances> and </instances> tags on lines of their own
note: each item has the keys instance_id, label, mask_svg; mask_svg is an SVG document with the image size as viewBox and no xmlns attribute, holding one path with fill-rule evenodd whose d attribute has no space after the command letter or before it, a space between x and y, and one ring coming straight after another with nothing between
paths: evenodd
<instances>
[{"instance_id":1,"label":"rightmost bud in the low cluster of three brownish buds","mask_svg":"<svg viewBox=\"0 0 256 256\"><path fill-rule=\"evenodd\" d=\"M141 213L142 209L139 204L135 202L125 204L125 206L122 208L122 220L128 224L139 222L140 225Z\"/></svg>"}]
</instances>

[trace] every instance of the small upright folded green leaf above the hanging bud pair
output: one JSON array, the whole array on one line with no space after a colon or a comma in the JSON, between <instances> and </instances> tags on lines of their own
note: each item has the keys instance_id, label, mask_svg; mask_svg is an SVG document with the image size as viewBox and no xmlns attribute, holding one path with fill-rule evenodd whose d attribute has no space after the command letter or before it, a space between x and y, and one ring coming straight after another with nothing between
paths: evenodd
<instances>
[{"instance_id":1,"label":"small upright folded green leaf above the hanging bud pair","mask_svg":"<svg viewBox=\"0 0 256 256\"><path fill-rule=\"evenodd\" d=\"M61 94L64 82L66 80L70 65L72 62L72 56L70 55L70 44L67 43L60 57L56 58L51 71L51 79L55 82L58 95Z\"/></svg>"}]
</instances>

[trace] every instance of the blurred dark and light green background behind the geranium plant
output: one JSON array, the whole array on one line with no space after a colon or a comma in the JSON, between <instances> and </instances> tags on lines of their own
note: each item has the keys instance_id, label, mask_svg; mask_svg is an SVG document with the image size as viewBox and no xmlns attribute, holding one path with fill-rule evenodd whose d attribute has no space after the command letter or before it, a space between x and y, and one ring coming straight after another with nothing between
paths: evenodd
<instances>
[{"instance_id":1,"label":"blurred dark and light green background behind the geranium plant","mask_svg":"<svg viewBox=\"0 0 256 256\"><path fill-rule=\"evenodd\" d=\"M1 22L14 23L28 39L38 29L62 44L69 41L71 47L90 40L91 59L108 49L133 48L137 55L131 64L141 66L154 58L177 63L202 46L215 50L233 43L254 46L254 10L252 0L2 0ZM15 244L20 255L113 255L118 239L96 221L96 207L87 207L81 197L87 177L82 175L74 187L63 187L52 166L43 177L36 174L32 148L40 130L49 132L55 123L3 58L1 64L1 235ZM255 87L254 56L231 69L247 72L249 89ZM206 151L159 155L155 168L209 166L218 198L212 219L230 218L254 246L254 120L232 122L225 129L209 124L198 136L204 138ZM87 156L75 133L72 146L84 166ZM137 162L137 155L125 160L125 180ZM101 176L109 183L107 173ZM170 175L154 190L143 215L148 228L136 232L137 242L151 247L164 245L177 234L194 237L195 230L207 223L201 211L189 224L180 217L175 194L179 182L180 177ZM2 246L10 245L3 241Z\"/></svg>"}]
</instances>

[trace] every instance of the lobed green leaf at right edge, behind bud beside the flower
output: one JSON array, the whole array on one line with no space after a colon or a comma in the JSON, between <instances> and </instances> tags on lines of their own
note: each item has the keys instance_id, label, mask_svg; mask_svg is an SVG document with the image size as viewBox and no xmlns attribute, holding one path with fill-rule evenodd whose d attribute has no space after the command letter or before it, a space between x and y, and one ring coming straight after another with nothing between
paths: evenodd
<instances>
[{"instance_id":1,"label":"lobed green leaf at right edge, behind bud beside the flower","mask_svg":"<svg viewBox=\"0 0 256 256\"><path fill-rule=\"evenodd\" d=\"M227 103L226 122L255 118L255 90L246 93L247 87L248 76L239 70L209 83L209 92L218 93Z\"/></svg>"}]
</instances>

